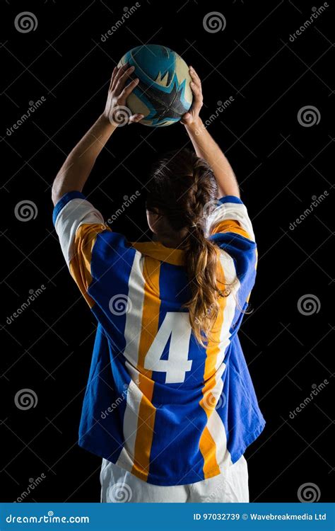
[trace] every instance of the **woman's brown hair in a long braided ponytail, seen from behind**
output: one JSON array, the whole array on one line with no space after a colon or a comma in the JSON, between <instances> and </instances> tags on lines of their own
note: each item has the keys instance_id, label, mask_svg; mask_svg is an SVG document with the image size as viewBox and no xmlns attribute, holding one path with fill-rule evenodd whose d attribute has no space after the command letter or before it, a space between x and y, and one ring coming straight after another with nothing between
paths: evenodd
<instances>
[{"instance_id":1,"label":"woman's brown hair in a long braided ponytail, seen from behind","mask_svg":"<svg viewBox=\"0 0 335 531\"><path fill-rule=\"evenodd\" d=\"M169 152L153 167L146 185L147 210L163 217L163 231L179 236L191 299L185 307L196 339L204 345L218 316L218 248L206 238L208 205L218 188L211 166L189 149ZM204 208L206 207L206 208ZM159 239L159 234L158 234Z\"/></svg>"}]
</instances>

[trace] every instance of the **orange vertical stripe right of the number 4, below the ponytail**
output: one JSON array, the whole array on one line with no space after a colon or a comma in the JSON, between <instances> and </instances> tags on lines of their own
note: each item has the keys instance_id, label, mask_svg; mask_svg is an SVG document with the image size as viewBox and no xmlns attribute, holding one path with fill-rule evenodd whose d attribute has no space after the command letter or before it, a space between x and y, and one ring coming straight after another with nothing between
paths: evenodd
<instances>
[{"instance_id":1,"label":"orange vertical stripe right of the number 4, below the ponytail","mask_svg":"<svg viewBox=\"0 0 335 531\"><path fill-rule=\"evenodd\" d=\"M225 282L223 268L220 264L221 275L218 275L218 285L221 289L221 282ZM211 331L211 339L208 341L206 348L206 361L204 370L204 382L205 385L202 389L203 398L200 401L200 406L204 409L207 415L207 422L213 413L216 403L219 399L216 393L212 394L211 389L216 386L216 361L218 359L218 353L220 352L219 342L221 336L221 328L223 326L223 313L226 305L226 297L220 297L218 299L220 306L218 317L213 325ZM208 428L205 428L200 441L199 448L202 456L204 457L204 478L211 477L216 474L220 474L218 462L216 461L216 442L213 440Z\"/></svg>"}]
</instances>

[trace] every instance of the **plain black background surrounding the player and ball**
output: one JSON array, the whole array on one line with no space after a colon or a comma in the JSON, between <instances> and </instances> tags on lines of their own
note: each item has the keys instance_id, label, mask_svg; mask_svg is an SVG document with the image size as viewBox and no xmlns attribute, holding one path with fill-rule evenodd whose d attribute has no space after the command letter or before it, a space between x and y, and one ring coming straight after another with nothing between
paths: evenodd
<instances>
[{"instance_id":1,"label":"plain black background surrounding the player and ball","mask_svg":"<svg viewBox=\"0 0 335 531\"><path fill-rule=\"evenodd\" d=\"M95 321L66 269L52 225L51 185L66 154L102 113L110 74L131 47L167 45L192 64L203 80L203 120L230 96L233 102L208 130L221 145L241 185L259 248L254 312L240 331L266 428L248 448L250 501L298 501L313 483L319 501L331 501L334 479L331 437L332 314L331 173L334 143L330 105L334 48L329 7L293 42L290 35L310 19L310 1L141 0L113 35L125 12L108 0L3 1L1 80L2 239L1 299L4 411L8 442L2 470L4 501L15 501L31 479L45 474L25 501L99 501L100 458L76 445ZM14 19L32 11L37 28L16 30ZM224 30L204 29L206 13L219 11ZM45 98L12 135L6 130ZM312 105L319 123L306 127L298 111ZM132 241L148 239L143 183L154 156L189 145L180 124L155 130L122 127L112 135L85 188L105 219L124 195L141 193L113 224ZM333 152L334 153L334 152ZM4 163L4 157L6 163ZM312 196L329 195L292 230ZM35 203L37 215L20 221L18 202ZM23 314L6 323L30 290L45 290ZM305 295L317 311L298 309ZM307 297L308 298L308 297ZM295 418L312 385L325 388ZM33 389L37 404L18 409L15 395Z\"/></svg>"}]
</instances>

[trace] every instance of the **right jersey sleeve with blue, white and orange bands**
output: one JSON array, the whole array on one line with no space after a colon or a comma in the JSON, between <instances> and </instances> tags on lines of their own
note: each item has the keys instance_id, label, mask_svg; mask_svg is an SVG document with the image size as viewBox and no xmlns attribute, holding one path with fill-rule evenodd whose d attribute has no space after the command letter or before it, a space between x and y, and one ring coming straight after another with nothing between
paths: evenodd
<instances>
[{"instance_id":1,"label":"right jersey sleeve with blue, white and orange bands","mask_svg":"<svg viewBox=\"0 0 335 531\"><path fill-rule=\"evenodd\" d=\"M240 198L226 195L219 199L208 216L207 230L208 238L233 259L230 263L239 282L239 306L245 309L256 278L257 245L247 208ZM229 265L228 259L223 262Z\"/></svg>"}]
</instances>

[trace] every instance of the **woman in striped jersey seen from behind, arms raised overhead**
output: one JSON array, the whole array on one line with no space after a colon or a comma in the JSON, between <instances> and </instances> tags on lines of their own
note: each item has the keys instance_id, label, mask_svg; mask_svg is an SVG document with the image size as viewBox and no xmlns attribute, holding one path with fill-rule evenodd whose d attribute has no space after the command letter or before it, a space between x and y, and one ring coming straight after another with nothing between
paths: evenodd
<instances>
[{"instance_id":1,"label":"woman in striped jersey seen from behind, arms raised overhead","mask_svg":"<svg viewBox=\"0 0 335 531\"><path fill-rule=\"evenodd\" d=\"M249 501L243 454L265 421L237 331L257 249L233 170L199 118L192 67L182 123L194 151L166 154L144 183L153 241L112 232L82 193L117 129L111 113L138 82L127 84L131 72L114 69L105 112L52 188L61 249L98 321L78 443L102 457L102 502Z\"/></svg>"}]
</instances>

